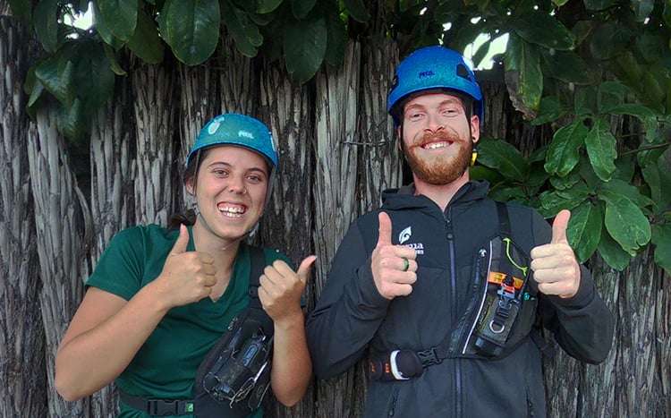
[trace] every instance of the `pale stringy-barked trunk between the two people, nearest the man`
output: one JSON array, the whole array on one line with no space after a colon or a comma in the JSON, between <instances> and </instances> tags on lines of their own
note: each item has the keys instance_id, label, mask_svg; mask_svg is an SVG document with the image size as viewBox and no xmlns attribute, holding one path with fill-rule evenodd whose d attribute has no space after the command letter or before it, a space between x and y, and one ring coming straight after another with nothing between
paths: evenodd
<instances>
[{"instance_id":1,"label":"pale stringy-barked trunk between the two people, nearest the man","mask_svg":"<svg viewBox=\"0 0 671 418\"><path fill-rule=\"evenodd\" d=\"M314 241L319 255L317 294L327 282L327 271L352 220L359 214L361 196L357 196L357 160L359 141L361 46L352 42L345 50L344 64L316 76L317 122L315 167ZM319 417L359 416L365 391L361 367L352 368L330 381L319 380L317 397Z\"/></svg>"}]
</instances>

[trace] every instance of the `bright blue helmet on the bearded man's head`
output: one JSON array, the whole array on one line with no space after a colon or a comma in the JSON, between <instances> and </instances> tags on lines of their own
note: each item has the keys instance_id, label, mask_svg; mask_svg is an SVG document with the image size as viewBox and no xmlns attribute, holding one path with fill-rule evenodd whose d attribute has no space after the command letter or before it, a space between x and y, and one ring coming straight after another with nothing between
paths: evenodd
<instances>
[{"instance_id":1,"label":"bright blue helmet on the bearded man's head","mask_svg":"<svg viewBox=\"0 0 671 418\"><path fill-rule=\"evenodd\" d=\"M402 105L403 98L412 93L433 89L453 90L471 97L473 111L482 120L482 91L463 55L446 47L423 47L405 57L396 67L392 89L386 100L386 110L394 118L396 126L401 121L395 106Z\"/></svg>"}]
</instances>

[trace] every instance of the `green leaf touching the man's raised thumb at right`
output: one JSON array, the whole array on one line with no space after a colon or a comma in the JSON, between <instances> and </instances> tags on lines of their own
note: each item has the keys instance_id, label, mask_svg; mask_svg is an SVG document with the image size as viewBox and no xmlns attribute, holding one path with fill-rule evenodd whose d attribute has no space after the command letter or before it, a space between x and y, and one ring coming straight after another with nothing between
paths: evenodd
<instances>
[{"instance_id":1,"label":"green leaf touching the man's raised thumb at right","mask_svg":"<svg viewBox=\"0 0 671 418\"><path fill-rule=\"evenodd\" d=\"M602 226L603 214L589 200L583 200L577 208L571 210L566 236L580 262L588 260L597 250Z\"/></svg>"}]
</instances>

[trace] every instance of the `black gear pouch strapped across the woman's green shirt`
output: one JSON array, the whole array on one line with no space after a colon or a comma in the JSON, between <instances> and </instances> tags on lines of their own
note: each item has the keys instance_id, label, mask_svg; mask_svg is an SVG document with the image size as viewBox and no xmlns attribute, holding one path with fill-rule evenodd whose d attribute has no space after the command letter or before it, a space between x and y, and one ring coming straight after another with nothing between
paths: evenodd
<instances>
[{"instance_id":1,"label":"black gear pouch strapped across the woman's green shirt","mask_svg":"<svg viewBox=\"0 0 671 418\"><path fill-rule=\"evenodd\" d=\"M259 320L247 311L234 318L196 372L196 416L245 417L256 410L270 386L272 348Z\"/></svg>"}]
</instances>

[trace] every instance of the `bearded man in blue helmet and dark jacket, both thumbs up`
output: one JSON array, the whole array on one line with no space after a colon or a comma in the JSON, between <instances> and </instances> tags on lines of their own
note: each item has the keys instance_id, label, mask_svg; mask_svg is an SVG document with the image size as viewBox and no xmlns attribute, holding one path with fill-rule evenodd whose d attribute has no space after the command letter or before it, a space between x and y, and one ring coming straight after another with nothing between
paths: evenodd
<instances>
[{"instance_id":1,"label":"bearded man in blue helmet and dark jacket, both thumbs up","mask_svg":"<svg viewBox=\"0 0 671 418\"><path fill-rule=\"evenodd\" d=\"M480 86L463 56L425 47L388 98L413 183L357 219L307 321L314 370L367 355L365 416L545 416L540 327L576 359L603 361L613 318L566 240L534 209L469 179Z\"/></svg>"}]
</instances>

